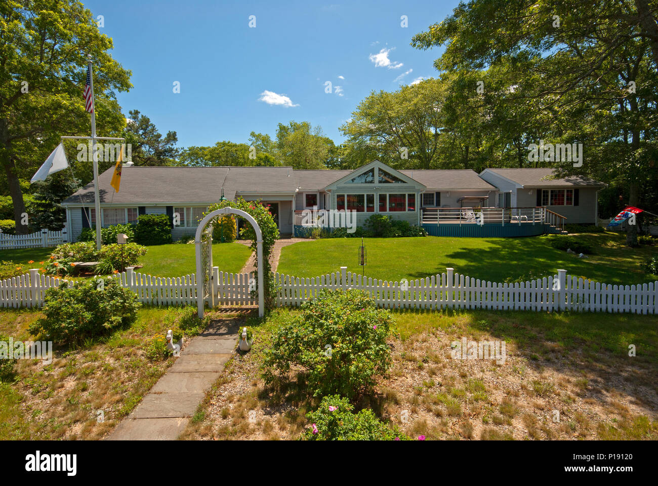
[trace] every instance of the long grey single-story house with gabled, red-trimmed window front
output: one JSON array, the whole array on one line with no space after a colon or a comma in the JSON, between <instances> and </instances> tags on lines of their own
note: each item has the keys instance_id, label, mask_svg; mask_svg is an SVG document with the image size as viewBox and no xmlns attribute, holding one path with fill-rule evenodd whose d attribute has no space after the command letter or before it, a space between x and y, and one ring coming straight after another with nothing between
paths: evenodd
<instances>
[{"instance_id":1,"label":"long grey single-story house with gabled, red-trimmed window front","mask_svg":"<svg viewBox=\"0 0 658 486\"><path fill-rule=\"evenodd\" d=\"M520 172L509 174L511 177L498 175L499 171L505 174L508 170ZM521 176L524 171L530 171L527 173L532 176ZM114 167L99 175L101 225L136 223L142 214L173 217L178 213L180 225L172 229L174 240L193 235L207 207L218 202L222 195L228 200L239 197L261 200L270 206L281 234L297 234L303 226L303 215L316 209L354 211L357 226L363 225L372 214L385 214L413 225L454 225L461 229L476 222L473 214L480 208L491 208L487 209L486 218L482 217L482 226L507 224L509 227L510 223L520 226L530 221L533 225L540 224L545 223L542 221L544 209L537 208L528 220L525 215L502 209L499 217L493 208L515 208L520 202L553 207L557 212L557 203L562 200L551 190L562 189L565 194L565 187L570 192L562 196L564 201L568 200L573 206L576 198L575 205L586 212L581 217L578 209L572 211L569 223L594 223L595 190L603 186L584 179L572 180L569 185L562 179L541 180L551 169L486 169L480 175L470 170L397 171L376 160L353 171L295 170L292 167L135 167L128 163L123 166L120 190L115 192L110 186L113 172ZM514 182L515 178L520 182ZM530 179L536 186L527 185ZM547 200L526 200L537 188L545 192ZM82 229L95 227L93 183L66 198L61 205L66 209L66 222L74 240ZM592 205L594 207L590 207ZM451 234L459 234L457 229L452 231ZM431 230L430 234L433 234ZM470 229L462 236L483 235Z\"/></svg>"}]
</instances>

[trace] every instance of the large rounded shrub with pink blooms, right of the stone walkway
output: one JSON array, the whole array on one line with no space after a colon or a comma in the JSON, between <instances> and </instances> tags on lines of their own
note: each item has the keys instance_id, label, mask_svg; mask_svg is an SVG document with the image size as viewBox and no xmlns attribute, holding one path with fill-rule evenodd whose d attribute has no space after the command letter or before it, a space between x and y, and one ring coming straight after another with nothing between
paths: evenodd
<instances>
[{"instance_id":1,"label":"large rounded shrub with pink blooms, right of the stone walkway","mask_svg":"<svg viewBox=\"0 0 658 486\"><path fill-rule=\"evenodd\" d=\"M392 322L390 312L378 310L362 290L322 291L276 331L264 377L272 383L271 370L286 374L295 365L307 370L305 381L314 396L361 396L391 364L386 337Z\"/></svg>"}]
</instances>

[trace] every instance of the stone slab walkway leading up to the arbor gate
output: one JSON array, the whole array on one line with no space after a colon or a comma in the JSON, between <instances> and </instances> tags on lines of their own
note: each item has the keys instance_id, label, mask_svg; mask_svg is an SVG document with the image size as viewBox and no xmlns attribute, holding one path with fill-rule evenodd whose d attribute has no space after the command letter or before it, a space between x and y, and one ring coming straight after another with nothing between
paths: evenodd
<instances>
[{"instance_id":1,"label":"stone slab walkway leading up to the arbor gate","mask_svg":"<svg viewBox=\"0 0 658 486\"><path fill-rule=\"evenodd\" d=\"M235 350L244 315L213 321L184 346L174 365L107 440L177 439Z\"/></svg>"}]
</instances>

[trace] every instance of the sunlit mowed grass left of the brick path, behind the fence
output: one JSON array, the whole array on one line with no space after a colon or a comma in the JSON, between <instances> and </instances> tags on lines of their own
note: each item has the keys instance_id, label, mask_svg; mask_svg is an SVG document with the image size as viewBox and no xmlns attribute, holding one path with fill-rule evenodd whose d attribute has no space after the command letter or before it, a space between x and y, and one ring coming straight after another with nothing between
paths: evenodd
<instances>
[{"instance_id":1,"label":"sunlit mowed grass left of the brick path, behind the fence","mask_svg":"<svg viewBox=\"0 0 658 486\"><path fill-rule=\"evenodd\" d=\"M139 259L141 273L156 277L182 277L196 272L194 244L168 244L147 246L147 253ZM0 250L0 260L10 260L22 267L26 273L31 268L40 268L41 261L49 259L53 248L22 248ZM238 273L247 263L251 250L238 242L213 245L213 265L220 271ZM28 261L34 263L28 263Z\"/></svg>"}]
</instances>

